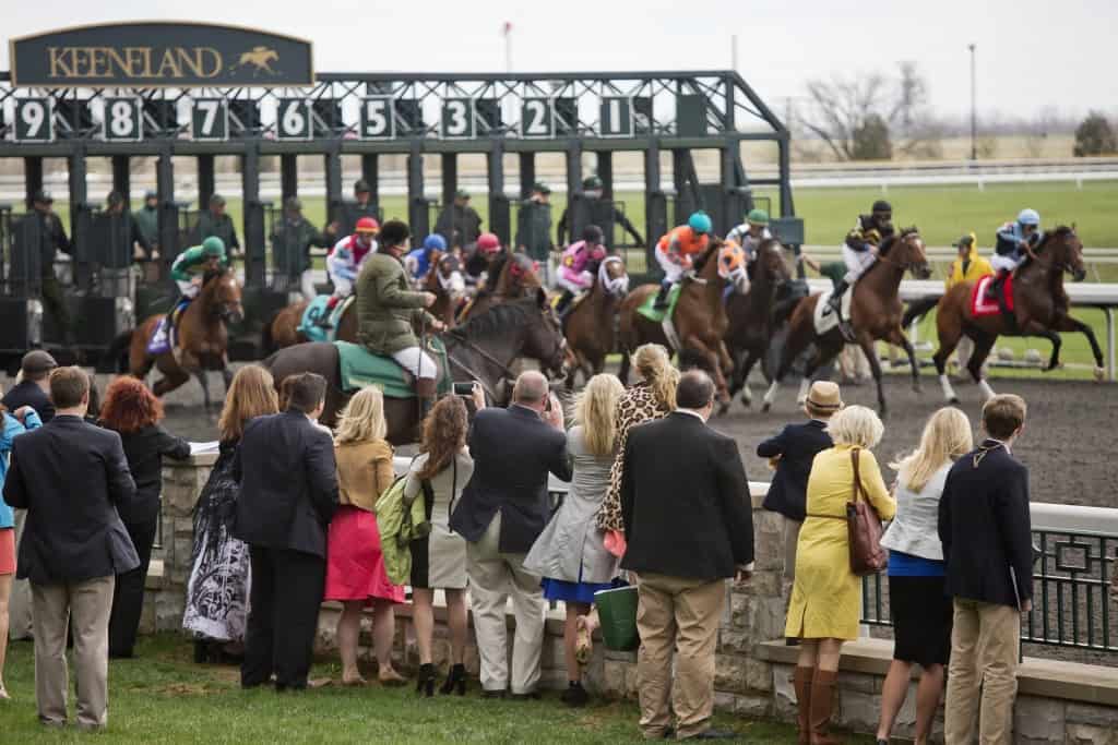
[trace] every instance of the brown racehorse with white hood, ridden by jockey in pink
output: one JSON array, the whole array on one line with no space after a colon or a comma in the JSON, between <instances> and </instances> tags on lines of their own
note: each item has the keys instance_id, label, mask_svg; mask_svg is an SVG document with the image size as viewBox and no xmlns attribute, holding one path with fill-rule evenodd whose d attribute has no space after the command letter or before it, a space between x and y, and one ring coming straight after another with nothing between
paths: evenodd
<instances>
[{"instance_id":1,"label":"brown racehorse with white hood, ridden by jockey in pink","mask_svg":"<svg viewBox=\"0 0 1118 745\"><path fill-rule=\"evenodd\" d=\"M563 319L567 348L574 361L567 371L568 391L575 388L579 372L590 380L606 366L606 355L616 346L617 305L628 293L628 273L622 257L601 259L595 274L594 286Z\"/></svg>"}]
</instances>

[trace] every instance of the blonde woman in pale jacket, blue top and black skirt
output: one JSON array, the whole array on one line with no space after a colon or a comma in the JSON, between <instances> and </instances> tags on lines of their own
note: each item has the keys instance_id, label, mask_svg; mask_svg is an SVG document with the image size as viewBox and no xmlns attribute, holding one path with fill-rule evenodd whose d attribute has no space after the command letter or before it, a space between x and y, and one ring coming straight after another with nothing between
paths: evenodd
<instances>
[{"instance_id":1,"label":"blonde woman in pale jacket, blue top and black skirt","mask_svg":"<svg viewBox=\"0 0 1118 745\"><path fill-rule=\"evenodd\" d=\"M951 650L951 599L944 588L944 547L937 523L947 471L974 448L970 420L954 408L928 419L920 446L890 467L897 471L897 517L881 545L889 550L889 613L893 661L881 694L878 742L889 742L904 705L912 665L922 668L916 691L916 743L928 742Z\"/></svg>"}]
</instances>

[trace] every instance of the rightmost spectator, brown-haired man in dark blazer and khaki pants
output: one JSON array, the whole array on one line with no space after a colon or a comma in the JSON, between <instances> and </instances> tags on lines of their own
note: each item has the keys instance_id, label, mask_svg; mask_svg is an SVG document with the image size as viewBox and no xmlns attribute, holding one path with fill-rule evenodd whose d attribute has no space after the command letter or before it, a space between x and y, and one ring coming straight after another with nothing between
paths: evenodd
<instances>
[{"instance_id":1,"label":"rightmost spectator, brown-haired man in dark blazer and khaki pants","mask_svg":"<svg viewBox=\"0 0 1118 745\"><path fill-rule=\"evenodd\" d=\"M1033 604L1029 470L1012 452L1025 402L995 395L982 421L986 440L955 462L939 500L945 589L955 602L947 745L969 745L976 729L983 743L1012 742L1021 613Z\"/></svg>"}]
</instances>

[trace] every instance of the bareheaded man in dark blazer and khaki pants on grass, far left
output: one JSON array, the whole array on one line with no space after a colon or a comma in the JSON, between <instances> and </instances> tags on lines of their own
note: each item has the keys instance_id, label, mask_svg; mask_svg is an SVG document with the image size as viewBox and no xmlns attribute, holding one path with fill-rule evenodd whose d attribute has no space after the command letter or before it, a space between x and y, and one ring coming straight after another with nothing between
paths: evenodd
<instances>
[{"instance_id":1,"label":"bareheaded man in dark blazer and khaki pants on grass, far left","mask_svg":"<svg viewBox=\"0 0 1118 745\"><path fill-rule=\"evenodd\" d=\"M108 615L117 572L140 565L116 512L135 484L116 432L85 422L89 378L50 373L55 417L12 440L3 498L27 510L18 576L30 580L39 722L66 724L66 628L74 630L77 725L100 729L108 699Z\"/></svg>"}]
</instances>

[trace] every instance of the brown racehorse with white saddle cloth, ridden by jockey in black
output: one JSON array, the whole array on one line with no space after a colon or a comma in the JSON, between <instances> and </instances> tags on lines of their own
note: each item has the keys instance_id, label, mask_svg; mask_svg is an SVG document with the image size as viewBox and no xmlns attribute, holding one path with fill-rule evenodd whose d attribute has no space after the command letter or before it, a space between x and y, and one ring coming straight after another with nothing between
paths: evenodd
<instances>
[{"instance_id":1,"label":"brown racehorse with white saddle cloth, ridden by jockey in black","mask_svg":"<svg viewBox=\"0 0 1118 745\"><path fill-rule=\"evenodd\" d=\"M912 390L920 390L920 370L916 362L916 352L904 335L901 326L901 305L899 289L906 271L911 271L919 279L931 276L928 258L925 256L923 239L919 231L906 228L899 235L887 239L881 246L877 262L858 280L850 303L850 324L854 329L854 341L862 347L870 362L870 372L878 385L878 411L882 417L887 413L885 392L881 385L881 363L878 362L877 341L885 341L904 350L909 364L912 366ZM815 307L821 295L809 295L803 298L792 312L788 322L788 340L780 354L780 366L765 394L762 411L768 411L776 399L780 381L788 374L793 362L808 344L815 345L815 353L807 362L804 379L800 381L798 401L807 398L812 375L842 352L846 340L836 325L822 336L815 331Z\"/></svg>"}]
</instances>

